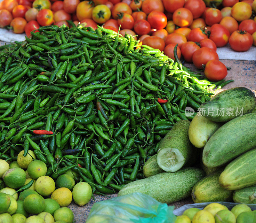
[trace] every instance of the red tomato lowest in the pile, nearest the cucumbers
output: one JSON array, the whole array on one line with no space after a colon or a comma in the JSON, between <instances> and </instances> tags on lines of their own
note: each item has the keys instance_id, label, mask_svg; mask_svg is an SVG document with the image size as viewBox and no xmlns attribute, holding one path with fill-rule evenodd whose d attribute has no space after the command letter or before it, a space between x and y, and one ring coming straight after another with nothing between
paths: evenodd
<instances>
[{"instance_id":1,"label":"red tomato lowest in the pile, nearest the cucumbers","mask_svg":"<svg viewBox=\"0 0 256 223\"><path fill-rule=\"evenodd\" d=\"M219 60L209 60L205 65L204 74L210 81L221 81L227 76L228 70Z\"/></svg>"}]
</instances>

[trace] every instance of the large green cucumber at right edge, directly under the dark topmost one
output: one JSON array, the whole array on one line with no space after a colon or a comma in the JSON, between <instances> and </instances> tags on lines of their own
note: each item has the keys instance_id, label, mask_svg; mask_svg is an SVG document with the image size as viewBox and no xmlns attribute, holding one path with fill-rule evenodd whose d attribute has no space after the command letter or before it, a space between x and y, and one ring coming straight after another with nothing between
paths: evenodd
<instances>
[{"instance_id":1,"label":"large green cucumber at right edge, directly under the dark topmost one","mask_svg":"<svg viewBox=\"0 0 256 223\"><path fill-rule=\"evenodd\" d=\"M203 163L216 167L228 163L256 147L256 113L230 120L212 135L204 146Z\"/></svg>"}]
</instances>

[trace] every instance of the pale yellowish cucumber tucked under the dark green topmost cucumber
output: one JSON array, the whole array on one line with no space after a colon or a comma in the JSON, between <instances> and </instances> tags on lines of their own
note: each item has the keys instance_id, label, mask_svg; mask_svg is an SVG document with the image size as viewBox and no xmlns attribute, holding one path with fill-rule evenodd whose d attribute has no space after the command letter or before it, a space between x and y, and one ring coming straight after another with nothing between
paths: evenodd
<instances>
[{"instance_id":1,"label":"pale yellowish cucumber tucked under the dark green topmost cucumber","mask_svg":"<svg viewBox=\"0 0 256 223\"><path fill-rule=\"evenodd\" d=\"M190 142L197 148L203 148L212 134L222 125L197 113L188 128Z\"/></svg>"}]
</instances>

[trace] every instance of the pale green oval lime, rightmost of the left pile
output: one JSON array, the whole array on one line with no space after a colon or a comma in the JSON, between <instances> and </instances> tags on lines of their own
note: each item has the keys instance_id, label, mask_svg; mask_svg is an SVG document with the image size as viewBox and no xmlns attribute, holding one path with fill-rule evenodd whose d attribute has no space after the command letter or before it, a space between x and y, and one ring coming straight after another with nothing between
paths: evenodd
<instances>
[{"instance_id":1,"label":"pale green oval lime, rightmost of the left pile","mask_svg":"<svg viewBox=\"0 0 256 223\"><path fill-rule=\"evenodd\" d=\"M92 188L88 183L79 182L73 188L72 196L76 204L84 206L91 200Z\"/></svg>"}]
</instances>

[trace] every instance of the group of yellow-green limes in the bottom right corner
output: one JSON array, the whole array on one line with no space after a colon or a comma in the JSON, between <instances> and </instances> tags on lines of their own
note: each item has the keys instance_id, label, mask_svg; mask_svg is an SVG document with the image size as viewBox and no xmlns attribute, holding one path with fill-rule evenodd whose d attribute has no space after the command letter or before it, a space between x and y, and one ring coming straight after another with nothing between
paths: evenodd
<instances>
[{"instance_id":1,"label":"group of yellow-green limes in the bottom right corner","mask_svg":"<svg viewBox=\"0 0 256 223\"><path fill-rule=\"evenodd\" d=\"M256 210L237 204L230 211L219 203L208 204L203 210L189 208L177 216L175 223L256 223Z\"/></svg>"}]
</instances>

